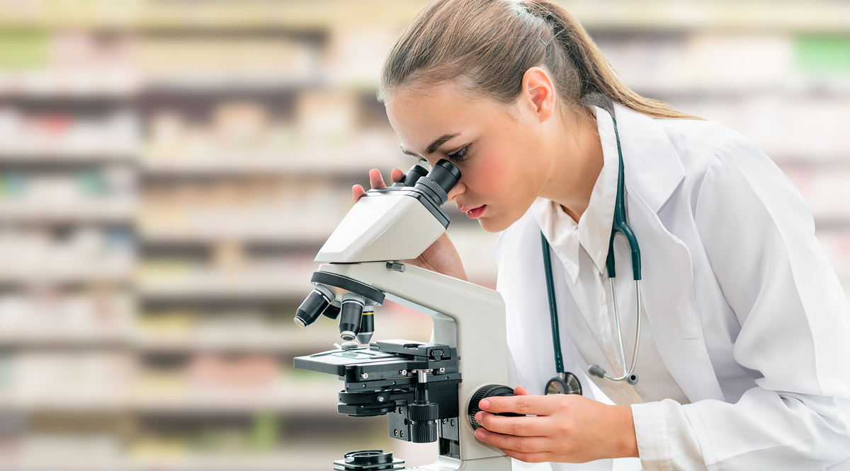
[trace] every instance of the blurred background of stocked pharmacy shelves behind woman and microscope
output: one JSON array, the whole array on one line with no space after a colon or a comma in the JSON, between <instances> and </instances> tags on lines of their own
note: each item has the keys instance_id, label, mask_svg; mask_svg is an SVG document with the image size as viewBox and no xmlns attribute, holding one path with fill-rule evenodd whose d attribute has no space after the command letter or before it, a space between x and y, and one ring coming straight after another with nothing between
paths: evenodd
<instances>
[{"instance_id":1,"label":"blurred background of stocked pharmacy shelves behind woman and microscope","mask_svg":"<svg viewBox=\"0 0 850 471\"><path fill-rule=\"evenodd\" d=\"M785 171L850 292L850 3L563 1L644 96ZM366 172L415 163L377 103L419 0L0 0L0 469L330 469L386 418L292 368L292 322ZM497 234L446 209L473 282ZM428 340L388 302L375 338Z\"/></svg>"}]
</instances>

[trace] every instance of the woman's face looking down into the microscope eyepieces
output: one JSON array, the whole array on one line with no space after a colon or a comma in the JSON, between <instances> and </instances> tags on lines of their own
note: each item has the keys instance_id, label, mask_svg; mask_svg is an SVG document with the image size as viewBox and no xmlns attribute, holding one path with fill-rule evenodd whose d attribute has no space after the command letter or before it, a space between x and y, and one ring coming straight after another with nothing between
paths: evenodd
<instances>
[{"instance_id":1,"label":"woman's face looking down into the microscope eyepieces","mask_svg":"<svg viewBox=\"0 0 850 471\"><path fill-rule=\"evenodd\" d=\"M396 91L385 104L405 154L432 166L447 159L460 169L449 200L490 233L519 220L547 182L551 153L539 118L522 99L508 115L499 104L467 98L447 82L427 93Z\"/></svg>"}]
</instances>

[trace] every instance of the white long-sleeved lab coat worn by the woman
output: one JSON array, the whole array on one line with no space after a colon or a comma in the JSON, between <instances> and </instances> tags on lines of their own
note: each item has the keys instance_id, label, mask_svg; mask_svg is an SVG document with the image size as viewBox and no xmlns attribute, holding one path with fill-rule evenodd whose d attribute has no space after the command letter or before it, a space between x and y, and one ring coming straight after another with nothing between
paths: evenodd
<instances>
[{"instance_id":1,"label":"white long-sleeved lab coat worn by the woman","mask_svg":"<svg viewBox=\"0 0 850 471\"><path fill-rule=\"evenodd\" d=\"M627 217L643 259L643 328L689 399L632 405L643 469L850 470L850 310L802 197L725 126L654 119L619 104L615 116ZM512 385L542 394L555 367L531 211L500 234L493 255ZM628 277L619 268L628 255L617 255L618 274ZM563 318L575 305L563 272L555 281ZM592 396L565 325L564 367Z\"/></svg>"}]
</instances>

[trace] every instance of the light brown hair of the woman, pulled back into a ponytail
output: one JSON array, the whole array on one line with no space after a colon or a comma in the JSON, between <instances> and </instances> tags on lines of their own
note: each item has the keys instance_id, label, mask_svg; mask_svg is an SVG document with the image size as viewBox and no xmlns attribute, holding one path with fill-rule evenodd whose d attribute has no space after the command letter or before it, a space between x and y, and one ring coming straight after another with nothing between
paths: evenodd
<instances>
[{"instance_id":1,"label":"light brown hair of the woman, pulled back into a ponytail","mask_svg":"<svg viewBox=\"0 0 850 471\"><path fill-rule=\"evenodd\" d=\"M581 109L581 98L602 93L643 115L702 119L632 92L581 24L545 0L429 3L388 53L377 98L456 81L470 96L513 104L525 71L535 66L552 76L564 109Z\"/></svg>"}]
</instances>

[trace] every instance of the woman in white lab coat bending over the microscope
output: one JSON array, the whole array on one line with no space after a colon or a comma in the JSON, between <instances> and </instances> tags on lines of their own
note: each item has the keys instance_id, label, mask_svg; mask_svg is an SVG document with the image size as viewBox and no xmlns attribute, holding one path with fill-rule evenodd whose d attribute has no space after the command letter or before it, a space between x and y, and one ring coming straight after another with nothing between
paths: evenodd
<instances>
[{"instance_id":1,"label":"woman in white lab coat bending over the microscope","mask_svg":"<svg viewBox=\"0 0 850 471\"><path fill-rule=\"evenodd\" d=\"M643 253L637 384L615 345L606 255L622 143L628 221ZM476 436L524 462L639 457L643 469L850 469L850 312L791 182L744 137L632 93L587 33L547 2L438 0L407 26L379 94L402 151L452 161L449 194L501 235L518 396L494 398ZM371 186L383 186L371 171ZM402 177L395 169L394 181ZM354 187L354 199L363 193ZM541 232L553 253L564 365L555 375ZM616 271L631 274L614 244ZM416 261L466 278L444 234ZM635 290L615 278L632 351ZM592 399L590 381L615 405ZM497 412L536 417L510 418ZM569 465L554 464L554 468Z\"/></svg>"}]
</instances>

